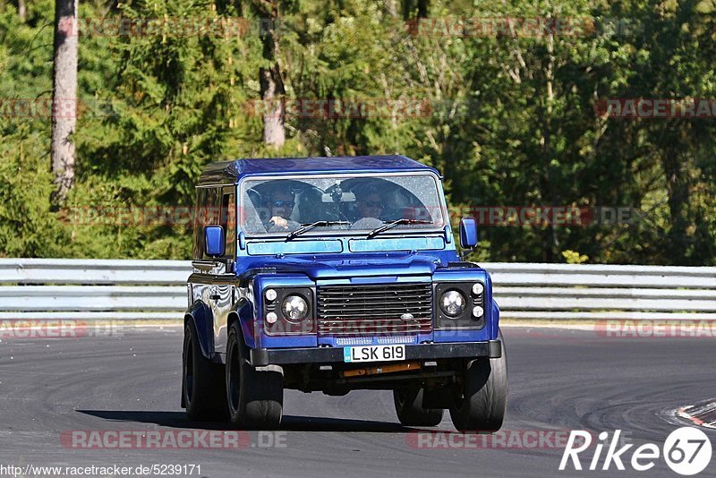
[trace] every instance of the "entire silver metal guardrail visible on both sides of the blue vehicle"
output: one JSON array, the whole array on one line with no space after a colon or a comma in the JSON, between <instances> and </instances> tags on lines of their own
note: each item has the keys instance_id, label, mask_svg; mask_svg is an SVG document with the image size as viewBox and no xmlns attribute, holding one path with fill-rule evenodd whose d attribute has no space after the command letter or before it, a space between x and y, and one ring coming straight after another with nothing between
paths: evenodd
<instances>
[{"instance_id":1,"label":"entire silver metal guardrail visible on both sides of the blue vehicle","mask_svg":"<svg viewBox=\"0 0 716 478\"><path fill-rule=\"evenodd\" d=\"M716 320L716 268L484 263L501 317ZM181 320L188 260L0 259L0 320Z\"/></svg>"}]
</instances>

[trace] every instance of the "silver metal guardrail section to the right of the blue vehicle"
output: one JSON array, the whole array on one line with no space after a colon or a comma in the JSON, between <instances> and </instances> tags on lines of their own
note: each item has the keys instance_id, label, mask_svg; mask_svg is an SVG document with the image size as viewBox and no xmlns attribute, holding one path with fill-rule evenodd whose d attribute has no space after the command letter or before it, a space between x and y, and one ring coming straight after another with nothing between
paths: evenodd
<instances>
[{"instance_id":1,"label":"silver metal guardrail section to the right of the blue vehicle","mask_svg":"<svg viewBox=\"0 0 716 478\"><path fill-rule=\"evenodd\" d=\"M716 268L482 264L511 319L716 320Z\"/></svg>"}]
</instances>

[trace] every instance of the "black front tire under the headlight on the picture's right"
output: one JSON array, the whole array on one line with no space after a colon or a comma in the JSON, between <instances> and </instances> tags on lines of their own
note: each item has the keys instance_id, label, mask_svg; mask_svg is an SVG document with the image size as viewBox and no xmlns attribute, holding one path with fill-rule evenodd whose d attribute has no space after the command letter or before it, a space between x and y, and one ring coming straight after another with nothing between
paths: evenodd
<instances>
[{"instance_id":1,"label":"black front tire under the headlight on the picture's right","mask_svg":"<svg viewBox=\"0 0 716 478\"><path fill-rule=\"evenodd\" d=\"M502 333L499 333L502 339ZM456 388L450 418L459 431L498 431L507 410L507 353L467 363L463 386Z\"/></svg>"}]
</instances>

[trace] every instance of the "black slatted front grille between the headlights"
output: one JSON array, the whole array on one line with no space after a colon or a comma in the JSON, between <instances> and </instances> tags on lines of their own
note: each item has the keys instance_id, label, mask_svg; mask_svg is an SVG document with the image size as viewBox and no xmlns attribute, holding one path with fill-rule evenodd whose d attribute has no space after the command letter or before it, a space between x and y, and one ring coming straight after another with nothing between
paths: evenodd
<instances>
[{"instance_id":1,"label":"black slatted front grille between the headlights","mask_svg":"<svg viewBox=\"0 0 716 478\"><path fill-rule=\"evenodd\" d=\"M321 335L425 333L432 330L431 284L320 286L317 293Z\"/></svg>"}]
</instances>

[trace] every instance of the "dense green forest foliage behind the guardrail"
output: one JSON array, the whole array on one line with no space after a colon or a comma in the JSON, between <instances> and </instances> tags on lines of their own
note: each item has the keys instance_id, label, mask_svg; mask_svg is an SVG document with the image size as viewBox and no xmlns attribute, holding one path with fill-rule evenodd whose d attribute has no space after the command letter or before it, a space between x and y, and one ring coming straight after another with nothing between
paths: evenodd
<instances>
[{"instance_id":1,"label":"dense green forest foliage behind the guardrail","mask_svg":"<svg viewBox=\"0 0 716 478\"><path fill-rule=\"evenodd\" d=\"M28 4L25 22L12 4L0 11L5 104L50 96L53 2ZM594 111L607 98L716 98L711 0L282 2L280 150L262 144L254 103L268 66L259 18L268 3L112 5L81 2L80 16L243 30L82 34L77 184L59 211L49 205L49 118L0 112L0 256L188 258L187 221L156 224L142 208L192 205L209 162L403 153L445 175L454 224L471 207L632 211L624 224L481 226L475 260L716 264L716 120ZM462 36L459 17L557 18L585 30ZM303 99L430 107L327 119L296 115Z\"/></svg>"}]
</instances>

